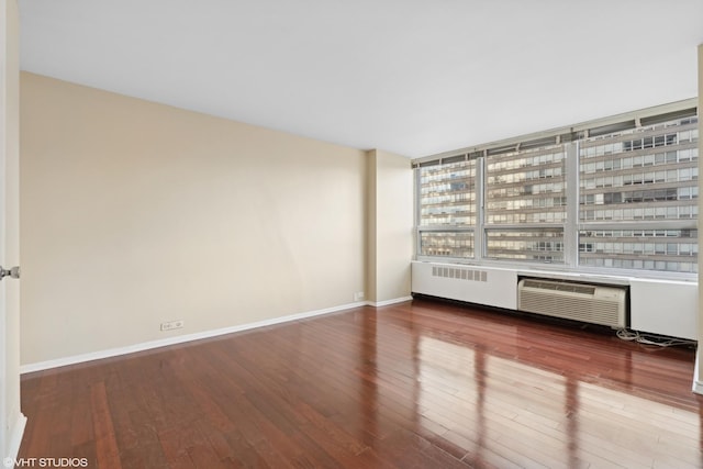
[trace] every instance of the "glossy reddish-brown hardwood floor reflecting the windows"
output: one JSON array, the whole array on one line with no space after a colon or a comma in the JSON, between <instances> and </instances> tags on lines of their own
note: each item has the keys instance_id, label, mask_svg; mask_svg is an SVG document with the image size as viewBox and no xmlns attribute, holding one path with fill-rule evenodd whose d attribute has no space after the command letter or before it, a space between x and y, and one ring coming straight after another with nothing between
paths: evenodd
<instances>
[{"instance_id":1,"label":"glossy reddish-brown hardwood floor reflecting the windows","mask_svg":"<svg viewBox=\"0 0 703 469\"><path fill-rule=\"evenodd\" d=\"M694 350L414 300L22 377L93 468L700 468Z\"/></svg>"}]
</instances>

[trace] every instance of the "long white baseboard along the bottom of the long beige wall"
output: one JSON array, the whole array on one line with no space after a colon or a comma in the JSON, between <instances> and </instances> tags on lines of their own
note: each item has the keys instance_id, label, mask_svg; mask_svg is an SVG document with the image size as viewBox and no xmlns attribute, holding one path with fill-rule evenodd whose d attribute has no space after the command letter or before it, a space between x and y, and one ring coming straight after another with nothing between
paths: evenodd
<instances>
[{"instance_id":1,"label":"long white baseboard along the bottom of the long beige wall","mask_svg":"<svg viewBox=\"0 0 703 469\"><path fill-rule=\"evenodd\" d=\"M255 323L241 324L236 326L223 327L223 328L212 330L212 331L204 331L204 332L199 332L194 334L179 335L179 336L163 338L158 340L145 342L142 344L127 345L124 347L109 348L105 350L91 351L89 354L81 354L81 355L74 355L70 357L57 358L55 360L46 360L46 361L40 361L36 364L27 364L27 365L20 366L20 373L24 375L24 373L34 372L34 371L42 371L42 370L47 370L52 368L64 367L67 365L76 365L76 364L82 364L86 361L100 360L102 358L118 357L121 355L133 354L135 351L150 350L153 348L166 347L168 345L177 345L177 344L183 344L191 340L198 340L201 338L216 337L224 334L232 334L235 332L248 331L257 327L265 327L265 326L270 326L275 324L287 323L290 321L304 320L306 317L320 316L323 314L335 313L338 311L350 310L354 308L366 306L366 305L372 305L372 304L370 302L359 301L356 303L348 303L339 306L326 308L323 310L315 310L315 311L309 311L304 313L291 314L288 316L275 317L271 320L257 321Z\"/></svg>"}]
</instances>

